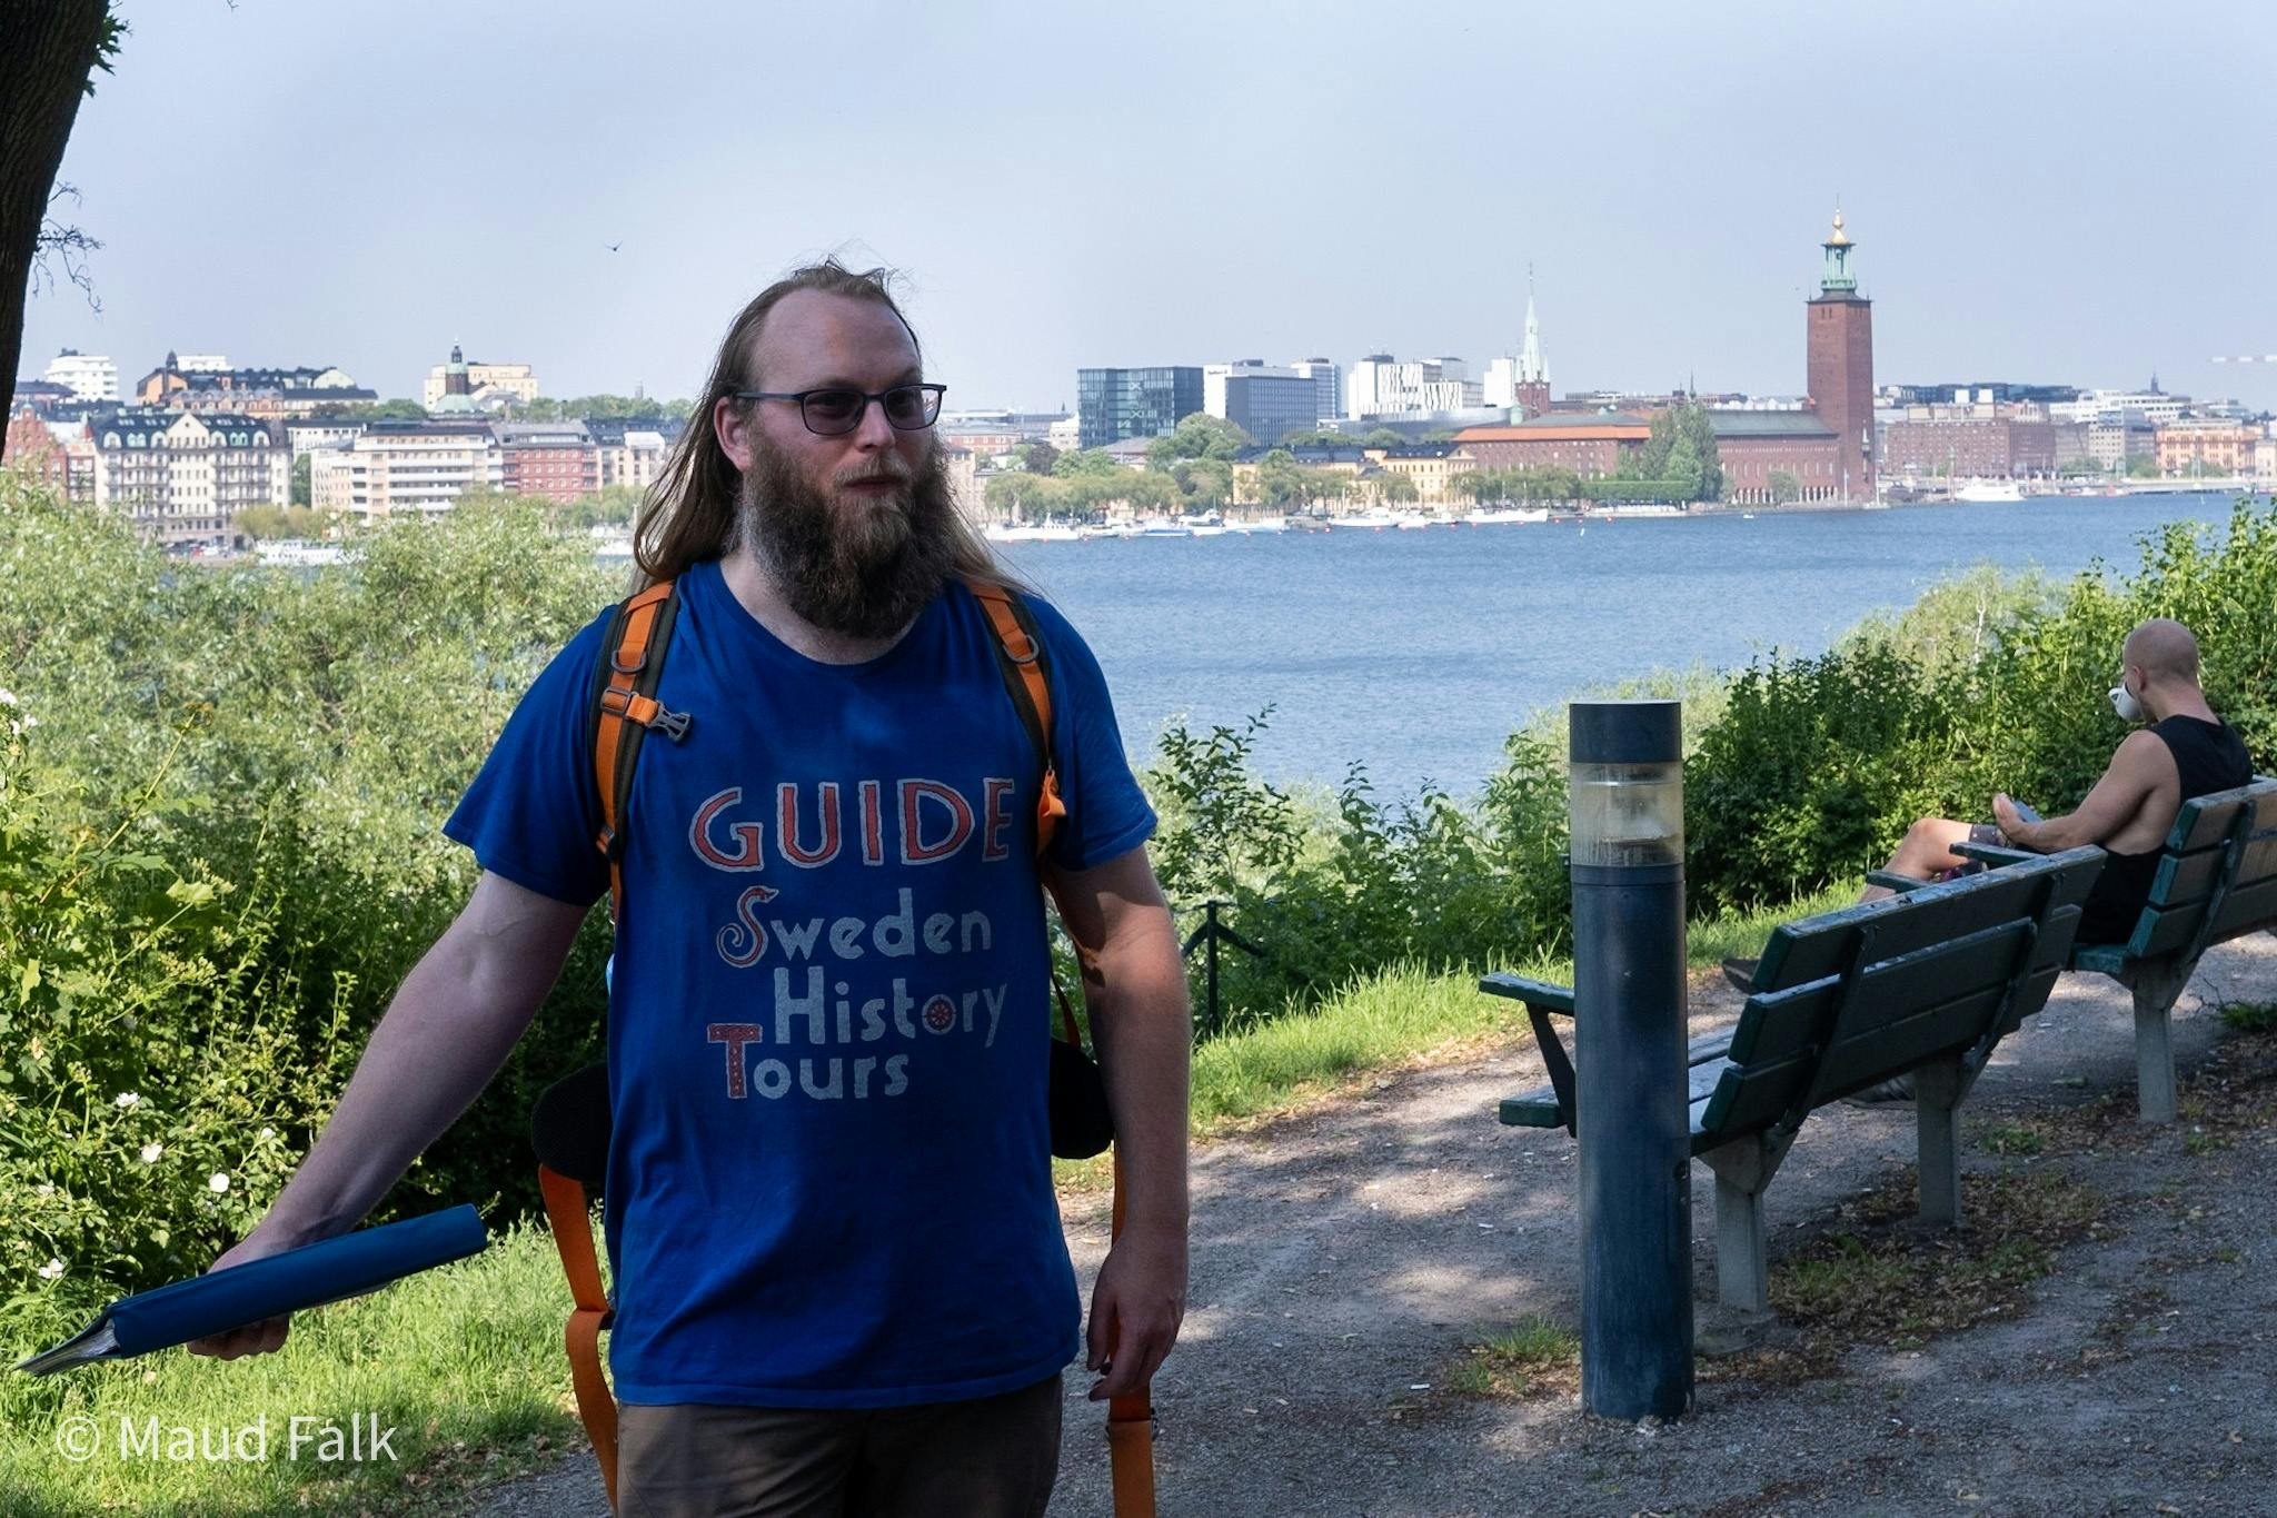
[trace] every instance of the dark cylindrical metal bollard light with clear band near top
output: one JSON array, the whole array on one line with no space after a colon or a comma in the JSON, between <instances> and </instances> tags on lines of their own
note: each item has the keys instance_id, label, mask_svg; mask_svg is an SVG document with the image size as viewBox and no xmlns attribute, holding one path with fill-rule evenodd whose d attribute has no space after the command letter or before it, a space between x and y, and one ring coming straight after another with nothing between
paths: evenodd
<instances>
[{"instance_id":1,"label":"dark cylindrical metal bollard light with clear band near top","mask_svg":"<svg viewBox=\"0 0 2277 1518\"><path fill-rule=\"evenodd\" d=\"M1580 1400L1601 1418L1678 1418L1692 1406L1683 708L1578 701L1569 719Z\"/></svg>"}]
</instances>

